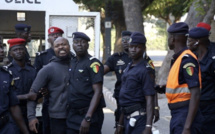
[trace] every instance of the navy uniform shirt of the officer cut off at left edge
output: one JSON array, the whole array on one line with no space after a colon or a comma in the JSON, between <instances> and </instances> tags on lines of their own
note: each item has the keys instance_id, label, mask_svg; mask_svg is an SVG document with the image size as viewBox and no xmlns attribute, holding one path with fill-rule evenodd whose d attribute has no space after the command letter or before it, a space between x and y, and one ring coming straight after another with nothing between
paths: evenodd
<instances>
[{"instance_id":1,"label":"navy uniform shirt of the officer cut off at left edge","mask_svg":"<svg viewBox=\"0 0 215 134\"><path fill-rule=\"evenodd\" d=\"M0 115L7 112L10 106L19 104L19 100L13 91L12 76L0 68Z\"/></svg>"}]
</instances>

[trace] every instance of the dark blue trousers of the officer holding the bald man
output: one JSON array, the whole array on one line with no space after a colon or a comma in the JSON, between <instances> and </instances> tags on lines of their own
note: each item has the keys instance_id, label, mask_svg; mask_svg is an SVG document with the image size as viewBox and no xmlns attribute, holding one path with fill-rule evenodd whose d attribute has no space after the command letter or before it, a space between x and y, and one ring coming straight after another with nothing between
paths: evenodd
<instances>
[{"instance_id":1,"label":"dark blue trousers of the officer holding the bald man","mask_svg":"<svg viewBox=\"0 0 215 134\"><path fill-rule=\"evenodd\" d=\"M79 128L84 117L85 114L80 115L70 111L67 117L67 134L79 134ZM95 111L91 120L88 134L101 134L104 121L104 113L102 109Z\"/></svg>"}]
</instances>

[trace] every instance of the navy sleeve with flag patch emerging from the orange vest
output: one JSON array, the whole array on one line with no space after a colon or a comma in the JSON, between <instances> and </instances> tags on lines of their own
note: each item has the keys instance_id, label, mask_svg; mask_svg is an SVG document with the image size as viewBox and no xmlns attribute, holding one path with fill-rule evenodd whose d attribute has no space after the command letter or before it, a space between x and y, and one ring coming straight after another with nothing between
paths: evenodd
<instances>
[{"instance_id":1,"label":"navy sleeve with flag patch emerging from the orange vest","mask_svg":"<svg viewBox=\"0 0 215 134\"><path fill-rule=\"evenodd\" d=\"M200 87L199 64L192 56L182 58L182 74L189 88Z\"/></svg>"}]
</instances>

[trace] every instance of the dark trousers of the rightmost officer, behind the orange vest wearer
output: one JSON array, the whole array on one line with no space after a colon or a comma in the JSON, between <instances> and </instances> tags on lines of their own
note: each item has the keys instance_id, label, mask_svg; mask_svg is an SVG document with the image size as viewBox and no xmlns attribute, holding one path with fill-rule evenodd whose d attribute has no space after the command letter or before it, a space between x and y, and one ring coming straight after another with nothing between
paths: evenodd
<instances>
[{"instance_id":1,"label":"dark trousers of the rightmost officer, behind the orange vest wearer","mask_svg":"<svg viewBox=\"0 0 215 134\"><path fill-rule=\"evenodd\" d=\"M215 134L215 103L208 105L200 103L200 110L204 117L202 134Z\"/></svg>"}]
</instances>

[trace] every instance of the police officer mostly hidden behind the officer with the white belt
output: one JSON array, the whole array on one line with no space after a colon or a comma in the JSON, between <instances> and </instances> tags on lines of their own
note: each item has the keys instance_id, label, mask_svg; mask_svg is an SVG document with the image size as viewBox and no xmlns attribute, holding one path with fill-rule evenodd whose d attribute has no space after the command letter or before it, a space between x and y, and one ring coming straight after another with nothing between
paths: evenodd
<instances>
[{"instance_id":1,"label":"police officer mostly hidden behind the officer with the white belt","mask_svg":"<svg viewBox=\"0 0 215 134\"><path fill-rule=\"evenodd\" d=\"M105 65L104 65L104 74L110 72L110 71L114 71L116 74L116 78L117 81L115 83L115 89L114 89L114 98L116 99L117 102L117 109L115 110L115 122L117 125L118 121L119 121L119 116L120 116L120 106L119 106L119 91L121 88L121 77L123 74L123 70L126 68L126 66L128 65L129 62L131 62L131 58L128 55L128 42L131 36L131 32L130 31L123 31L121 33L122 35L122 46L123 46L123 52L118 52L118 53L114 53L113 55L111 55L108 60L106 61ZM149 56L146 55L146 53L144 52L143 54L144 59L149 63L150 66L152 66L152 73L153 73L153 77L155 77L155 70L154 70L154 65L152 60L150 59ZM155 122L159 119L159 107L158 107L158 103L157 103L157 98L155 98Z\"/></svg>"}]
</instances>

